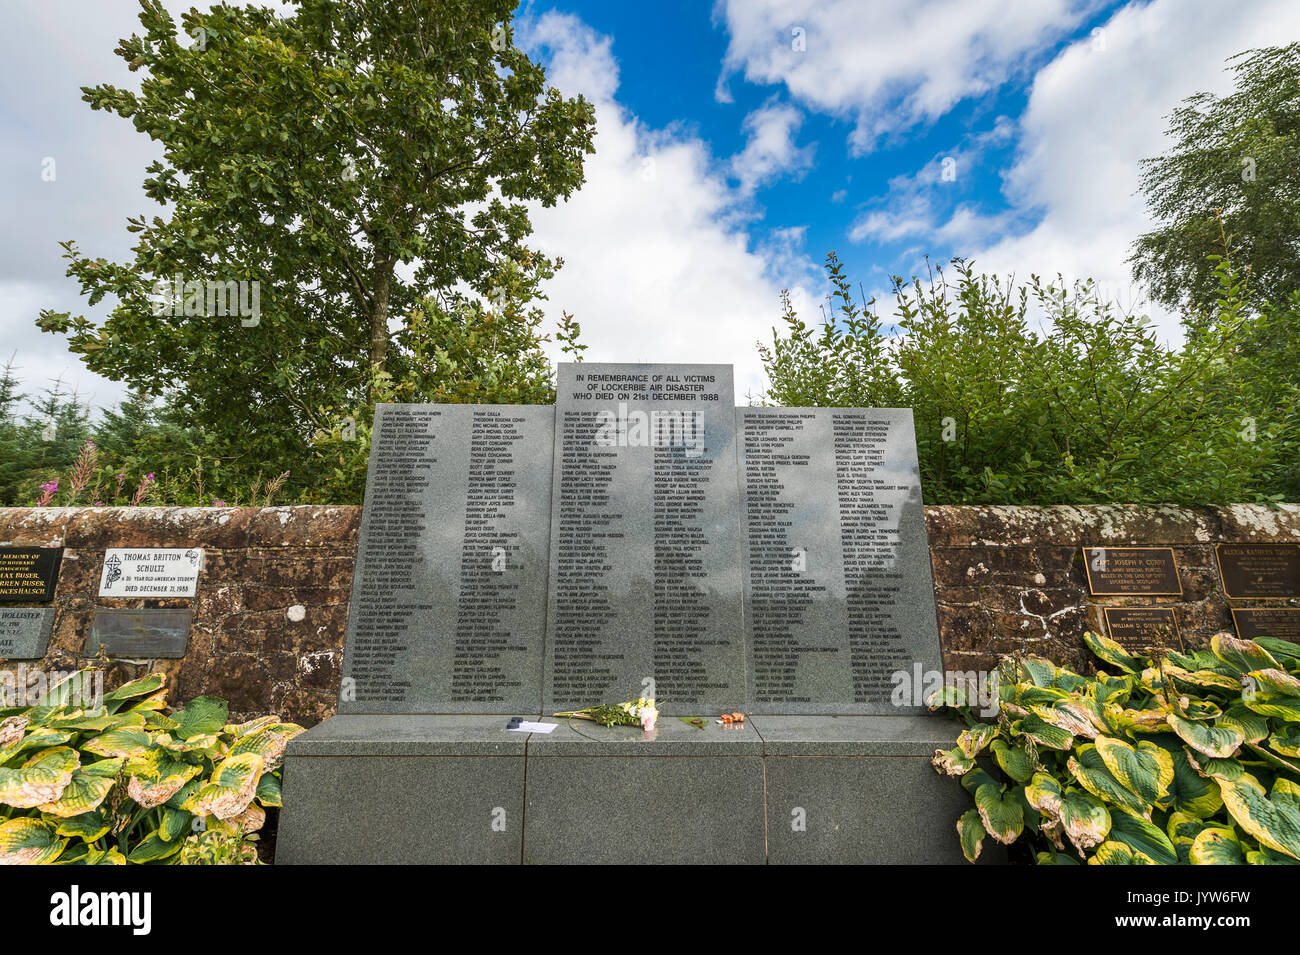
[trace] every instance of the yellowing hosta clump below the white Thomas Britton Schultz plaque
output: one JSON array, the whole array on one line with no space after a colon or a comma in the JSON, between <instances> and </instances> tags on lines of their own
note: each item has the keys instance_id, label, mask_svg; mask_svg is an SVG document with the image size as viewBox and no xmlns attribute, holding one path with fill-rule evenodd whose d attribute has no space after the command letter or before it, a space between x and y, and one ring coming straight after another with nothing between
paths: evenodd
<instances>
[{"instance_id":1,"label":"yellowing hosta clump below the white Thomas Britton Schultz plaque","mask_svg":"<svg viewBox=\"0 0 1300 955\"><path fill-rule=\"evenodd\" d=\"M61 689L48 706L0 709L0 864L256 861L302 726L229 724L209 696L168 715L159 673L94 709Z\"/></svg>"}]
</instances>

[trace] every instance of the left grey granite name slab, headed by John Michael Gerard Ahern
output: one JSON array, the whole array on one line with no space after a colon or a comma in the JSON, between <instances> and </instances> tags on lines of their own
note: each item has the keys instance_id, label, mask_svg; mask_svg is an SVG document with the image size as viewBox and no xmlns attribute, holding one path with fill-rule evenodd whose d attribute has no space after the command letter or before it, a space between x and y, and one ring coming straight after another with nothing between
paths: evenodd
<instances>
[{"instance_id":1,"label":"left grey granite name slab, headed by John Michael Gerard Ahern","mask_svg":"<svg viewBox=\"0 0 1300 955\"><path fill-rule=\"evenodd\" d=\"M376 409L343 713L536 713L554 409Z\"/></svg>"}]
</instances>

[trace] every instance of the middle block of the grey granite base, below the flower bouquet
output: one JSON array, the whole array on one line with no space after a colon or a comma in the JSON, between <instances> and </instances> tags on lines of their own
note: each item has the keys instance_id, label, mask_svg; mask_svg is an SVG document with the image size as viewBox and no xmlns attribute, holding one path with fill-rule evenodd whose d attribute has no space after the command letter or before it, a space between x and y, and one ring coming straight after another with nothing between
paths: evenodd
<instances>
[{"instance_id":1,"label":"middle block of the grey granite base, below the flower bouquet","mask_svg":"<svg viewBox=\"0 0 1300 955\"><path fill-rule=\"evenodd\" d=\"M541 756L537 739L525 863L764 861L760 756Z\"/></svg>"}]
</instances>

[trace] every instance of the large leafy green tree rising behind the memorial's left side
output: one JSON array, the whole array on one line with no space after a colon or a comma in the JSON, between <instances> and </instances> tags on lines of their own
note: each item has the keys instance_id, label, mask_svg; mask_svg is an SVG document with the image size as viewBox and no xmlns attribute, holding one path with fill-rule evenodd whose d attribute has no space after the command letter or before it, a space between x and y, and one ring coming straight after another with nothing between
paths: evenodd
<instances>
[{"instance_id":1,"label":"large leafy green tree rising behind the memorial's left side","mask_svg":"<svg viewBox=\"0 0 1300 955\"><path fill-rule=\"evenodd\" d=\"M368 413L377 381L429 398L445 324L416 309L523 314L556 266L526 246L526 204L582 183L594 110L512 44L514 6L217 5L178 32L142 0L117 48L139 92L83 94L161 144L144 191L168 216L129 221L129 262L64 243L88 304L117 304L99 326L51 311L40 326L108 378L174 390L205 457L315 486L328 461L308 446L339 409ZM540 335L515 342L540 353Z\"/></svg>"}]
</instances>

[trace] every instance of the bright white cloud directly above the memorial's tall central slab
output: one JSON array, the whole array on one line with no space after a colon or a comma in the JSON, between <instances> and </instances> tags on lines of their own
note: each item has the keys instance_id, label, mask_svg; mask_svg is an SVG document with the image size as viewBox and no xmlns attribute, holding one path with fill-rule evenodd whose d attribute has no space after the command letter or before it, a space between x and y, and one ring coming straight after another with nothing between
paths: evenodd
<instances>
[{"instance_id":1,"label":"bright white cloud directly above the memorial's tall central slab","mask_svg":"<svg viewBox=\"0 0 1300 955\"><path fill-rule=\"evenodd\" d=\"M567 203L533 209L534 243L564 257L547 313L575 313L588 361L736 365L736 391L764 387L755 342L779 322L783 286L816 282L802 230L762 247L744 230L742 190L706 143L654 130L616 100L608 38L572 16L519 25L516 42L545 53L547 81L597 110L586 185Z\"/></svg>"}]
</instances>

